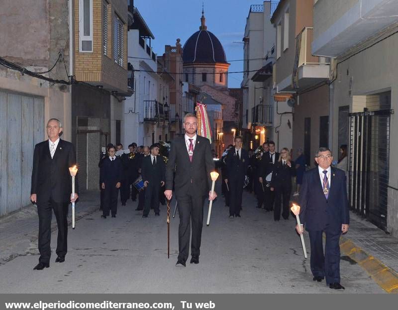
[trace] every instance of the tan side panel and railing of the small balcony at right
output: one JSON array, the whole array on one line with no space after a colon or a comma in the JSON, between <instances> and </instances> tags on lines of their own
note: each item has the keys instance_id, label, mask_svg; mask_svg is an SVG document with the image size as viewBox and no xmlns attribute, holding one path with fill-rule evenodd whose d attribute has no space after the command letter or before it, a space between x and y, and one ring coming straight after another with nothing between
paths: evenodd
<instances>
[{"instance_id":1,"label":"tan side panel and railing of the small balcony at right","mask_svg":"<svg viewBox=\"0 0 398 310\"><path fill-rule=\"evenodd\" d=\"M305 65L328 65L330 58L313 56L311 54L311 43L313 39L313 28L304 27L296 37L296 52L298 53L298 67ZM296 57L297 57L296 56Z\"/></svg>"}]
</instances>

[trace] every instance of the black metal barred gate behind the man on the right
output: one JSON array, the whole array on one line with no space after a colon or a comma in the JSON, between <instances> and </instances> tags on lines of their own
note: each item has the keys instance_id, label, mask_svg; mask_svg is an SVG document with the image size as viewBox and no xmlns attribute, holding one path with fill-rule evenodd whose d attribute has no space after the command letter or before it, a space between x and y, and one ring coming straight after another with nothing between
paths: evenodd
<instances>
[{"instance_id":1,"label":"black metal barred gate behind the man on the right","mask_svg":"<svg viewBox=\"0 0 398 310\"><path fill-rule=\"evenodd\" d=\"M350 114L349 202L359 214L387 229L390 110Z\"/></svg>"}]
</instances>

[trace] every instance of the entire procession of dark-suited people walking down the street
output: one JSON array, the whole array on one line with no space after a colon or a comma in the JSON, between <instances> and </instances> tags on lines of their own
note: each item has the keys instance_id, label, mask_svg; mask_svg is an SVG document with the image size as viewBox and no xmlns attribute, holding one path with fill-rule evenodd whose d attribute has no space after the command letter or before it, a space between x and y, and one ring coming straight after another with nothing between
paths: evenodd
<instances>
[{"instance_id":1,"label":"entire procession of dark-suited people walking down the street","mask_svg":"<svg viewBox=\"0 0 398 310\"><path fill-rule=\"evenodd\" d=\"M214 179L210 178L210 173L216 169L210 142L197 134L196 114L186 114L183 125L185 134L171 142L170 151L167 143L155 143L150 147L131 143L128 151L123 150L120 143L108 144L98 165L103 219L109 214L116 217L119 191L122 206L130 198L136 201L138 196L136 210L143 211L143 218L148 217L151 208L155 216L159 216L160 202L164 204L165 198L170 202L176 197L180 218L176 267L186 267L190 254L190 263L199 264L204 202L217 198L213 191ZM61 132L61 122L50 119L47 123L49 139L38 143L34 150L30 199L37 204L40 252L35 270L50 266L52 212L58 225L55 262L65 262L68 205L79 198L78 178L72 191L69 174L70 167L77 165L75 148L72 143L60 139ZM340 285L339 238L349 227L346 167L333 167L332 153L326 147L317 150L316 167L305 171L302 150L293 161L293 152L286 147L276 152L273 141L264 143L255 152L243 149L242 144L242 137L235 136L234 145L227 148L218 165L229 217L240 218L242 207L250 207L242 203L243 189L247 187L257 196L258 208L264 206L267 211L274 211L275 221L280 220L282 211L282 217L287 220L295 178L297 191L294 195L299 195L300 205L296 230L302 234L305 226L309 233L313 281L321 282L326 278L331 289L344 289ZM346 147L341 146L340 150L336 164L343 166L347 161ZM324 250L323 234L326 236Z\"/></svg>"}]
</instances>

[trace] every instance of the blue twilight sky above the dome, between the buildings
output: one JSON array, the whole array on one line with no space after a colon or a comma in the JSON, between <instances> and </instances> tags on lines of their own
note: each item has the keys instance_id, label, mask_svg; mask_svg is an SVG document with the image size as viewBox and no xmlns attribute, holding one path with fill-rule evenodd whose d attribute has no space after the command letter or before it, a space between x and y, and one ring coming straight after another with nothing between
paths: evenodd
<instances>
[{"instance_id":1,"label":"blue twilight sky above the dome, between the buildings","mask_svg":"<svg viewBox=\"0 0 398 310\"><path fill-rule=\"evenodd\" d=\"M151 29L155 40L151 45L155 53L162 55L165 45L175 46L199 30L204 3L207 30L212 32L224 47L229 71L243 71L243 44L246 17L250 4L263 4L262 0L134 0L136 6ZM228 87L240 88L242 73L229 74Z\"/></svg>"}]
</instances>

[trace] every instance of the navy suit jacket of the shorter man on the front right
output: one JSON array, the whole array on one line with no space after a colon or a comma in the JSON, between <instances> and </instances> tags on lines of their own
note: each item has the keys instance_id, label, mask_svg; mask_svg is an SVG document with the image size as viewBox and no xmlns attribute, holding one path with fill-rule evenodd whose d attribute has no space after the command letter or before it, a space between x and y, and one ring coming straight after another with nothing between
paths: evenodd
<instances>
[{"instance_id":1,"label":"navy suit jacket of the shorter man on the front right","mask_svg":"<svg viewBox=\"0 0 398 310\"><path fill-rule=\"evenodd\" d=\"M300 221L306 230L341 231L341 224L349 224L346 176L344 171L331 167L330 190L326 200L318 167L304 173L300 188Z\"/></svg>"}]
</instances>

